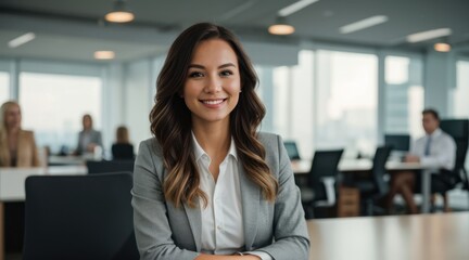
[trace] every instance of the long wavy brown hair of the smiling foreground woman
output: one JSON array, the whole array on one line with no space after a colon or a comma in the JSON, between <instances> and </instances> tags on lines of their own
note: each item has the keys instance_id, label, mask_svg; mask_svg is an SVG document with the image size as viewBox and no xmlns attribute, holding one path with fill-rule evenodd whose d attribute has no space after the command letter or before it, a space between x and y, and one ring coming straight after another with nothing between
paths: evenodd
<instances>
[{"instance_id":1,"label":"long wavy brown hair of the smiling foreground woman","mask_svg":"<svg viewBox=\"0 0 469 260\"><path fill-rule=\"evenodd\" d=\"M230 114L231 134L248 178L261 188L265 199L274 202L278 182L270 173L265 161L265 148L257 140L257 128L265 116L265 107L255 93L257 76L237 37L210 23L195 24L177 37L156 81L157 92L150 121L168 171L163 184L165 198L176 207L183 203L197 207L198 198L207 204L206 195L199 187L200 176L192 153L191 112L181 94L194 49L210 39L226 41L237 55L242 92Z\"/></svg>"}]
</instances>

